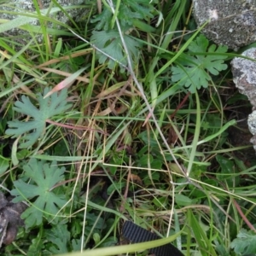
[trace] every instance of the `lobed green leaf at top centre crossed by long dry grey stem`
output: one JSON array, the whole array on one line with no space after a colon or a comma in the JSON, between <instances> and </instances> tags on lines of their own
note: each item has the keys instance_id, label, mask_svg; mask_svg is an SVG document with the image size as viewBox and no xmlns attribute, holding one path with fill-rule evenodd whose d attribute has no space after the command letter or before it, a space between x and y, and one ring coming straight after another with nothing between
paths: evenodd
<instances>
[{"instance_id":1,"label":"lobed green leaf at top centre crossed by long dry grey stem","mask_svg":"<svg viewBox=\"0 0 256 256\"><path fill-rule=\"evenodd\" d=\"M123 45L121 42L121 38L119 36L119 32L117 31L101 31L101 32L92 32L91 41L92 44L95 44L98 49L101 49L106 55L102 53L98 53L99 62L102 64L105 61L108 61L108 68L113 69L114 66L119 62L123 64L123 66L127 66L127 58L124 54ZM123 35L125 38L125 44L127 46L129 55L136 62L139 54L138 47L140 44L135 41L133 38ZM109 59L109 57L111 59ZM124 67L121 66L121 71L124 72Z\"/></svg>"}]
</instances>

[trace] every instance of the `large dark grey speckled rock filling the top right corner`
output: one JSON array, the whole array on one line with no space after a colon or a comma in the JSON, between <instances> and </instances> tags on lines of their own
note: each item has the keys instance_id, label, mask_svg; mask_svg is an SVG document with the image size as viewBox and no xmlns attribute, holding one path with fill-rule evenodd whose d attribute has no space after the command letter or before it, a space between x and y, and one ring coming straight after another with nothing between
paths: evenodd
<instances>
[{"instance_id":1,"label":"large dark grey speckled rock filling the top right corner","mask_svg":"<svg viewBox=\"0 0 256 256\"><path fill-rule=\"evenodd\" d=\"M207 38L230 49L256 41L256 0L193 0L194 17Z\"/></svg>"}]
</instances>

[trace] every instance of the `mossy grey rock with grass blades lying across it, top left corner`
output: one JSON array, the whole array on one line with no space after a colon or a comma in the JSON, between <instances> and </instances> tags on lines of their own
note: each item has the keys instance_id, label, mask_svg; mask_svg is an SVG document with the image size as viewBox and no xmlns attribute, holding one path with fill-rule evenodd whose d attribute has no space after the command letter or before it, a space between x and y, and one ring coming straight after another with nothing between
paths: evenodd
<instances>
[{"instance_id":1,"label":"mossy grey rock with grass blades lying across it, top left corner","mask_svg":"<svg viewBox=\"0 0 256 256\"><path fill-rule=\"evenodd\" d=\"M53 23L49 20L33 18L33 15L36 16L37 13L32 0L9 0L7 4L0 4L0 19L4 20L4 22L2 21L3 24L0 25L0 32L3 32L1 35L8 35L8 38L14 42L20 43L21 45L23 43L24 45L32 38L30 35L32 32L33 36L36 36L38 42L40 42L42 41L42 29L39 26L40 22L44 22L45 28L47 29L60 29L61 23L67 24L67 22L70 21L69 17L78 21L86 11L83 8L79 8L79 5L85 3L85 1L86 0L56 0L56 3L59 3L61 8L55 5L51 0L38 1L38 7L42 17L46 16L56 20L56 22ZM77 8L74 8L75 6ZM63 11L63 9L65 11ZM8 23L9 26L6 26ZM28 27L26 23L32 26ZM3 29L3 26L9 27L9 29Z\"/></svg>"}]
</instances>

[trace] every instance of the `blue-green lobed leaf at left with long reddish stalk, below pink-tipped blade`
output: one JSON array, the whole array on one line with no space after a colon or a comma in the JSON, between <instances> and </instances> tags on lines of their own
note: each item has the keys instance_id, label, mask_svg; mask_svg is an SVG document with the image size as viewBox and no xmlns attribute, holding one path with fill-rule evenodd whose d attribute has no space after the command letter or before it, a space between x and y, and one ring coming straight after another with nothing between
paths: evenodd
<instances>
[{"instance_id":1,"label":"blue-green lobed leaf at left with long reddish stalk, below pink-tipped blade","mask_svg":"<svg viewBox=\"0 0 256 256\"><path fill-rule=\"evenodd\" d=\"M44 89L44 96L49 90L50 88ZM44 134L46 119L71 108L71 104L67 104L67 90L61 90L59 95L55 92L45 99L44 96L38 94L39 108L32 104L28 96L21 96L21 102L15 102L13 109L31 118L29 121L21 122L19 119L15 119L8 122L9 129L5 131L6 134L12 135L12 137L23 135L20 138L20 148L27 148L36 143L38 138Z\"/></svg>"}]
</instances>

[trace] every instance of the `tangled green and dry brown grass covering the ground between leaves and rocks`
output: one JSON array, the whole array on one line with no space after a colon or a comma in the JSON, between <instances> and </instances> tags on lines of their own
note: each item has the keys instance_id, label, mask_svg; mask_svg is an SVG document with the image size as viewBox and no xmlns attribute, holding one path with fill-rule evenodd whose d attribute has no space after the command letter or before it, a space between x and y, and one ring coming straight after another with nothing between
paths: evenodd
<instances>
[{"instance_id":1,"label":"tangled green and dry brown grass covering the ground between leaves and rocks","mask_svg":"<svg viewBox=\"0 0 256 256\"><path fill-rule=\"evenodd\" d=\"M30 160L56 160L65 172L47 193L66 200L53 214L36 207L37 197L21 193L20 200L44 218L36 224L22 215L26 229L20 228L17 239L1 249L4 255L81 255L81 250L82 255L91 250L93 255L148 255L148 248L170 241L184 255L256 253L256 163L248 156L253 147L230 137L231 127L241 129L239 136L247 129L232 117L250 106L232 89L230 67L211 75L207 88L195 93L172 81L172 67L182 61L201 28L196 29L189 1L167 2L154 1L154 18L148 23L137 19L132 26L137 55L122 40L124 26L114 23L119 5L112 9L110 24L121 35L117 45L123 45L126 62L107 58L90 44L97 24L91 20L98 14L93 2L85 6L84 20L69 16L72 26L44 15L67 9L56 1L47 11L33 1L35 13L23 13L16 22L1 21L0 32L20 26L31 35L22 36L26 44L11 36L0 38L2 188L14 195L17 182L35 184L25 172ZM155 27L159 14L163 20ZM40 24L28 25L28 19ZM54 24L50 29L48 22ZM223 55L231 59L237 54ZM38 107L38 93L48 87L51 93L67 88L72 108L46 119L37 142L20 148L24 134L11 138L6 133L9 121L29 120L16 111L15 102L25 95ZM123 245L119 234L127 219L167 238Z\"/></svg>"}]
</instances>

